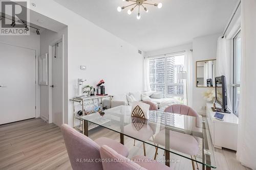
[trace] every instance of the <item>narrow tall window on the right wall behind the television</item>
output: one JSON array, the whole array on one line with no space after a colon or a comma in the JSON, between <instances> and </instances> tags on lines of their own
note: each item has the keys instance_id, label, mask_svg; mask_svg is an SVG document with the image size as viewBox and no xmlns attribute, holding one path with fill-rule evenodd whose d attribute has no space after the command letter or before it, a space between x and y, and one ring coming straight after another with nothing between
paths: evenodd
<instances>
[{"instance_id":1,"label":"narrow tall window on the right wall behind the television","mask_svg":"<svg viewBox=\"0 0 256 170\"><path fill-rule=\"evenodd\" d=\"M238 116L240 82L241 82L241 31L233 38L233 113Z\"/></svg>"}]
</instances>

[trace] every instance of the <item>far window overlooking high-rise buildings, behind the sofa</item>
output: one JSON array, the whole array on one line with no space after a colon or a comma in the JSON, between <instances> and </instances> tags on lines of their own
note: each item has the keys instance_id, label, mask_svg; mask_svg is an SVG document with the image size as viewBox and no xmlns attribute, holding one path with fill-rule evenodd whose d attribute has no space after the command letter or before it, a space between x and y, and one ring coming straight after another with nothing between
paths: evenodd
<instances>
[{"instance_id":1,"label":"far window overlooking high-rise buildings, behind the sofa","mask_svg":"<svg viewBox=\"0 0 256 170\"><path fill-rule=\"evenodd\" d=\"M184 71L184 53L150 59L150 86L162 92L165 98L183 101L184 80L177 80L177 73Z\"/></svg>"}]
</instances>

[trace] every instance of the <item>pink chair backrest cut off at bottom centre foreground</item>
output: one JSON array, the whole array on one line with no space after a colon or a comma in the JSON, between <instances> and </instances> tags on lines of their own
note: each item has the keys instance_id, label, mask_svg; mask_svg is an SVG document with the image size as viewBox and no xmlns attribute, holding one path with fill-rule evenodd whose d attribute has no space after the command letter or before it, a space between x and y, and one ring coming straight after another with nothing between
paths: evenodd
<instances>
[{"instance_id":1,"label":"pink chair backrest cut off at bottom centre foreground","mask_svg":"<svg viewBox=\"0 0 256 170\"><path fill-rule=\"evenodd\" d=\"M102 145L100 147L100 156L102 160L116 160L112 162L102 161L104 170L146 170L139 164L132 162L130 159L118 154L107 145Z\"/></svg>"}]
</instances>

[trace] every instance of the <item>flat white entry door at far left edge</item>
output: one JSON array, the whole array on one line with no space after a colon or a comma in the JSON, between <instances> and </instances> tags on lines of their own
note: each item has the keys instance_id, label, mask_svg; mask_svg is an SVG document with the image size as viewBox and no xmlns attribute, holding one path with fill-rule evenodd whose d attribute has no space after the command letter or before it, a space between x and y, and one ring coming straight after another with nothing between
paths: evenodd
<instances>
[{"instance_id":1,"label":"flat white entry door at far left edge","mask_svg":"<svg viewBox=\"0 0 256 170\"><path fill-rule=\"evenodd\" d=\"M0 125L35 117L35 51L0 43Z\"/></svg>"}]
</instances>

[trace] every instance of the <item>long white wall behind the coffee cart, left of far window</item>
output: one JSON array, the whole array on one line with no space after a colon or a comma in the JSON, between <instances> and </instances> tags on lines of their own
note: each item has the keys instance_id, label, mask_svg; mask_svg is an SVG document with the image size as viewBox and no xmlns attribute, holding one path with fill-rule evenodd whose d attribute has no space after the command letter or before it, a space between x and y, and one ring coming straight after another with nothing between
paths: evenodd
<instances>
[{"instance_id":1,"label":"long white wall behind the coffee cart, left of far window","mask_svg":"<svg viewBox=\"0 0 256 170\"><path fill-rule=\"evenodd\" d=\"M68 86L65 89L68 95L64 96L65 115L68 115L65 123L73 125L73 107L68 100L77 94L78 78L87 79L86 84L90 85L104 79L106 92L111 94L143 90L143 56L136 47L53 0L33 3L36 7L31 5L31 10L68 26L68 60L64 61L68 70L64 78ZM86 65L87 70L80 70L80 65Z\"/></svg>"}]
</instances>

